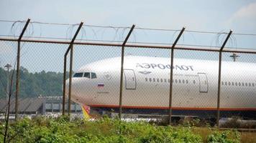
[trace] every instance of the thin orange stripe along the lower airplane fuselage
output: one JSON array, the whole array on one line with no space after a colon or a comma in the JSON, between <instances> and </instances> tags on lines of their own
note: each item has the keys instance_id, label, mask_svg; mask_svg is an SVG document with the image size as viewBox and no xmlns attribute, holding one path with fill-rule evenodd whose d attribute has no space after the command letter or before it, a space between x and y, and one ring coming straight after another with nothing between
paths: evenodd
<instances>
[{"instance_id":1,"label":"thin orange stripe along the lower airplane fuselage","mask_svg":"<svg viewBox=\"0 0 256 143\"><path fill-rule=\"evenodd\" d=\"M119 108L118 105L88 105L89 107L109 107ZM200 107L138 107L138 106L122 106L122 108L132 109L179 109L179 110L217 110L217 108L200 108ZM220 108L221 111L256 111L256 108Z\"/></svg>"}]
</instances>

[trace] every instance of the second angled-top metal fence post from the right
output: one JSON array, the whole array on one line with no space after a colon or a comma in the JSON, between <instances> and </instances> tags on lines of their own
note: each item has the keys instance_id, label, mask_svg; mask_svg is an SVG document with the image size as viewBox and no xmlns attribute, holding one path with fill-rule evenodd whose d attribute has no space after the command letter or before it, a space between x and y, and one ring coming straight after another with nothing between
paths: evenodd
<instances>
[{"instance_id":1,"label":"second angled-top metal fence post from the right","mask_svg":"<svg viewBox=\"0 0 256 143\"><path fill-rule=\"evenodd\" d=\"M171 56L170 56L170 97L169 97L169 124L172 123L172 102L173 102L173 55L174 55L174 48L175 45L178 43L178 40L180 39L180 36L183 34L183 31L185 31L185 27L180 31L180 34L178 34L177 39L175 39L173 46L171 47Z\"/></svg>"}]
</instances>

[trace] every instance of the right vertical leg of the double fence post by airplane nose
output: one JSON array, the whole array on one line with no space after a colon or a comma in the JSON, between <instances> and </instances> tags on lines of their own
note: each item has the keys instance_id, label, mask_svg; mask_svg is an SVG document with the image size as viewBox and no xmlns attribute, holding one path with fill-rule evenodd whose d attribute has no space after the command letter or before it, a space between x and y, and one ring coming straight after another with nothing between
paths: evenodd
<instances>
[{"instance_id":1,"label":"right vertical leg of the double fence post by airplane nose","mask_svg":"<svg viewBox=\"0 0 256 143\"><path fill-rule=\"evenodd\" d=\"M70 48L69 84L68 84L68 116L71 111L71 90L72 90L72 70L73 70L73 44Z\"/></svg>"}]
</instances>

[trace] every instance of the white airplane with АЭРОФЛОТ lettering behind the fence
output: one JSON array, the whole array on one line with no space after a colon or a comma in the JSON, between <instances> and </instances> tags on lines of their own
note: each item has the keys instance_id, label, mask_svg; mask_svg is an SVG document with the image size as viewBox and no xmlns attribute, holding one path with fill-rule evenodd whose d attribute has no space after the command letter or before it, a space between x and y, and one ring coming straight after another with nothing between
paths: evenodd
<instances>
[{"instance_id":1,"label":"white airplane with \u0410\u042d\u0420\u041e\u0424\u041b\u041e\u0422 lettering behind the fence","mask_svg":"<svg viewBox=\"0 0 256 143\"><path fill-rule=\"evenodd\" d=\"M174 59L173 114L216 117L218 65L219 61ZM256 64L223 61L221 67L221 117L256 119ZM81 67L73 75L72 100L118 112L120 69L121 57ZM124 113L168 114L169 58L125 56L123 83Z\"/></svg>"}]
</instances>

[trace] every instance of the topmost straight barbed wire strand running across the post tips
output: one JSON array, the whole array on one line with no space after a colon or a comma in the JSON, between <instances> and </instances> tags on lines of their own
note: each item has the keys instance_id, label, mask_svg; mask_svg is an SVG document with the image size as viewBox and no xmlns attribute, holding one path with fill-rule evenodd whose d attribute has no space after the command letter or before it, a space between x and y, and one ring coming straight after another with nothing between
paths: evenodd
<instances>
[{"instance_id":1,"label":"topmost straight barbed wire strand running across the post tips","mask_svg":"<svg viewBox=\"0 0 256 143\"><path fill-rule=\"evenodd\" d=\"M12 20L1 20L0 22L25 22L25 21L12 21ZM32 24L47 24L47 25L63 25L63 26L74 26L77 24L68 24L68 23L50 23L50 22L41 22L41 21L31 21ZM129 26L100 26L100 25L90 25L84 24L83 26L96 27L96 28L111 28L111 29L129 29ZM180 29L155 29L155 28L143 28L143 27L135 27L134 29L138 30L150 30L150 31L180 31ZM201 34L228 34L228 32L219 32L219 31L198 31L198 30L186 30L185 32L191 33L201 33ZM241 36L256 36L256 34L247 34L247 33L233 33L233 35L241 35Z\"/></svg>"}]
</instances>

